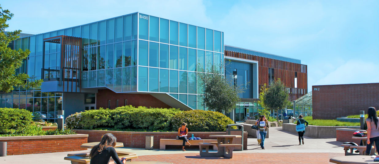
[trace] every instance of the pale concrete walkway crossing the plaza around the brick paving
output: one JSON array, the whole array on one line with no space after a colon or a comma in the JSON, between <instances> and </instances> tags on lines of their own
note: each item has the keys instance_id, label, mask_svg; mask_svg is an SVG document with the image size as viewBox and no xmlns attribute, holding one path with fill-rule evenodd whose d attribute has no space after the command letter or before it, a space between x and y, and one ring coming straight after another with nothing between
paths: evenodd
<instances>
[{"instance_id":1,"label":"pale concrete walkway crossing the plaza around the brick paving","mask_svg":"<svg viewBox=\"0 0 379 164\"><path fill-rule=\"evenodd\" d=\"M305 155L307 155L306 153L309 153L310 157L312 157L312 153L322 153L323 156L325 156L326 154L325 160L329 158L327 153L330 153L330 155L333 155L333 156L337 156L340 153L341 155L344 155L343 148L339 146L341 142L335 141L336 140L335 138L314 139L314 138L305 137L305 140L304 140L305 144L298 145L299 141L298 141L297 134L295 135L295 134L284 132L282 131L282 127L271 127L269 133L270 133L270 138L266 139L265 141L265 150L262 150L260 146L257 144L257 139L249 138L247 139L248 150L235 151L233 153L241 153L241 155L243 156L249 156L248 155L249 153L267 153L268 156L278 155L275 153L279 153L279 154L288 153L289 156L294 156L294 158L296 158L296 153L305 153ZM138 156L141 156L141 158L138 158L138 160L146 159L149 161L160 161L160 158L162 157L168 158L168 156L170 157L172 156L173 161L175 161L177 160L177 157L179 156L183 157L183 156L186 156L187 154L194 156L194 155L199 154L199 150L189 150L189 151L184 152L181 150L145 150L145 149L125 148L125 147L116 148L116 149L124 149L127 152L135 152L137 153ZM60 152L60 153L5 156L5 157L0 157L0 163L1 164L19 164L19 163L70 164L70 161L63 159L65 156L67 156L68 153L78 153L78 152L88 152L88 151L85 150L85 151L77 151L77 152ZM145 157L145 155L147 156ZM182 161L185 159L183 157L183 159L179 159L179 160ZM327 161L323 161L323 162L328 163Z\"/></svg>"}]
</instances>

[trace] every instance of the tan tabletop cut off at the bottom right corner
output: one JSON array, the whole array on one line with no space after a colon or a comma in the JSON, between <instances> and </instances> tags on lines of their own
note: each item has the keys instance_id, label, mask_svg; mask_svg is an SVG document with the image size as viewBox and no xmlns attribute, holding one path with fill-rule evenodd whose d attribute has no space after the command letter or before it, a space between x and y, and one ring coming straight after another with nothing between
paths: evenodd
<instances>
[{"instance_id":1,"label":"tan tabletop cut off at the bottom right corner","mask_svg":"<svg viewBox=\"0 0 379 164\"><path fill-rule=\"evenodd\" d=\"M337 156L330 158L329 162L336 164L379 164L379 162L374 162L374 158L367 155Z\"/></svg>"}]
</instances>

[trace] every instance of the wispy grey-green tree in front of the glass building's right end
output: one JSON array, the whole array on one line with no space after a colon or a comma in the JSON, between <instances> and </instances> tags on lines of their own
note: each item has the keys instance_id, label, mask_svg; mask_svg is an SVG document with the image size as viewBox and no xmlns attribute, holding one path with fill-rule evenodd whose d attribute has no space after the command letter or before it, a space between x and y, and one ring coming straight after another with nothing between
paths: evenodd
<instances>
[{"instance_id":1,"label":"wispy grey-green tree in front of the glass building's right end","mask_svg":"<svg viewBox=\"0 0 379 164\"><path fill-rule=\"evenodd\" d=\"M238 94L243 93L244 88L235 86L231 75L230 78L224 77L224 62L220 63L207 69L206 73L198 73L198 93L202 96L200 103L205 104L208 110L229 113L240 102ZM201 65L198 68L199 71L204 70Z\"/></svg>"}]
</instances>

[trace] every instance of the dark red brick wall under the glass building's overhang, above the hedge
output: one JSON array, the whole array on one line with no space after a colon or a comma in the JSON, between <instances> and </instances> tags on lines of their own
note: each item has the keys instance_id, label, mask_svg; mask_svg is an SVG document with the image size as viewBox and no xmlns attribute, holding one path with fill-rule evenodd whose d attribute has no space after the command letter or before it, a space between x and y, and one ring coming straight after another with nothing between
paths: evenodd
<instances>
[{"instance_id":1,"label":"dark red brick wall under the glass building's overhang, above the hedge","mask_svg":"<svg viewBox=\"0 0 379 164\"><path fill-rule=\"evenodd\" d=\"M125 99L128 100L127 104L125 104ZM133 107L171 108L150 94L114 93L108 89L99 90L96 94L96 108L108 108L108 100L111 101L111 109L116 108L116 100L119 100L119 107L132 105Z\"/></svg>"}]
</instances>

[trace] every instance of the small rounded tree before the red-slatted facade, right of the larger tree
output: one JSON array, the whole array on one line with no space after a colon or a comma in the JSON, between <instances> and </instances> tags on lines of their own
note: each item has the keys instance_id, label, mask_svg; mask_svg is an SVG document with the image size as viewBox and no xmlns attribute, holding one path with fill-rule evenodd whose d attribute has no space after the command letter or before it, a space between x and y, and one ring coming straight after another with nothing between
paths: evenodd
<instances>
[{"instance_id":1,"label":"small rounded tree before the red-slatted facade, right of the larger tree","mask_svg":"<svg viewBox=\"0 0 379 164\"><path fill-rule=\"evenodd\" d=\"M271 82L267 92L263 95L263 103L265 107L278 112L279 109L287 107L288 103L288 91L280 79ZM276 116L276 120L279 121L279 116Z\"/></svg>"}]
</instances>

